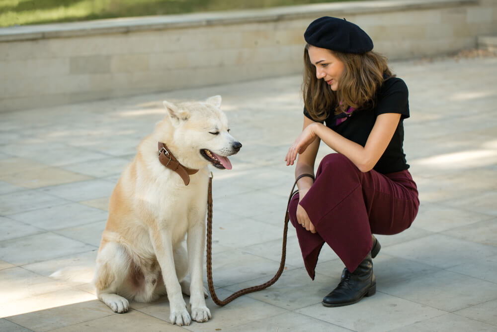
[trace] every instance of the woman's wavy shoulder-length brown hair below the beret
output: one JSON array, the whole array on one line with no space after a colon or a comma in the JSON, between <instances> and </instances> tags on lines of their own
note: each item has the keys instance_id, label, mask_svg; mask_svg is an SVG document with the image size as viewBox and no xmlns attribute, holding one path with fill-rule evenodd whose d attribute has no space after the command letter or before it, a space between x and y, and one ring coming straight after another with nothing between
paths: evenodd
<instances>
[{"instance_id":1,"label":"woman's wavy shoulder-length brown hair below the beret","mask_svg":"<svg viewBox=\"0 0 497 332\"><path fill-rule=\"evenodd\" d=\"M325 80L316 77L316 67L309 58L309 44L304 49L304 106L318 121L326 119L349 107L361 109L374 107L376 92L384 82L383 75L392 76L387 59L373 51L363 54L341 53L329 50L344 63L338 91L332 91ZM340 103L341 102L341 103Z\"/></svg>"}]
</instances>

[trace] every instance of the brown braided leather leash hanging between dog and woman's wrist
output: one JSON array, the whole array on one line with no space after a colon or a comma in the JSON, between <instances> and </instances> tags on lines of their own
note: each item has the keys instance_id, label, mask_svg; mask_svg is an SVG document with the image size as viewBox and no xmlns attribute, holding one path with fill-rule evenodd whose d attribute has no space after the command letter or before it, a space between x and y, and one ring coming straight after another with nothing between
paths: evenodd
<instances>
[{"instance_id":1,"label":"brown braided leather leash hanging between dog and woman's wrist","mask_svg":"<svg viewBox=\"0 0 497 332\"><path fill-rule=\"evenodd\" d=\"M211 293L212 300L214 301L215 304L217 304L218 306L224 306L242 295L263 290L264 288L267 288L272 284L274 284L276 280L279 279L281 273L283 273L283 269L285 267L285 259L286 259L286 233L288 230L288 221L289 221L288 206L290 205L290 201L293 195L295 195L296 193L296 191L294 192L294 189L295 186L297 185L297 181L299 181L299 179L304 176L309 176L314 179L314 176L311 174L302 174L299 177L297 177L295 183L293 184L292 190L290 191L290 197L288 198L288 204L285 213L285 224L283 227L283 248L281 252L281 262L279 269L274 275L274 277L264 284L241 289L238 292L235 292L232 295L228 296L226 299L220 300L216 295L216 291L214 290L214 282L212 281L212 173L211 173L211 177L209 178L209 190L207 195L207 283L209 285L209 292Z\"/></svg>"}]
</instances>

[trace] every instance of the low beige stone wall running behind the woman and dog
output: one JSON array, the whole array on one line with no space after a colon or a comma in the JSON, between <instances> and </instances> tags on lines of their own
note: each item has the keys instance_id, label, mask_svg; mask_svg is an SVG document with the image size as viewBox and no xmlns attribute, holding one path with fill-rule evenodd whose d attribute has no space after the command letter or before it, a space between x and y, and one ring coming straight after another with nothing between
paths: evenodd
<instances>
[{"instance_id":1,"label":"low beige stone wall running behind the woman and dog","mask_svg":"<svg viewBox=\"0 0 497 332\"><path fill-rule=\"evenodd\" d=\"M0 28L0 111L302 71L303 32L345 17L406 59L476 47L497 0L375 0Z\"/></svg>"}]
</instances>

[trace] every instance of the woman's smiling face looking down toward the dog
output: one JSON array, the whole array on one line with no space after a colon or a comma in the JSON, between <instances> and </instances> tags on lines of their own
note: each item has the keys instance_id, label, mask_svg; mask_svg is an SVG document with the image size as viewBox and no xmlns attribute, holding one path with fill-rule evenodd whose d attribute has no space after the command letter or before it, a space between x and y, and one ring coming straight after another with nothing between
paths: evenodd
<instances>
[{"instance_id":1,"label":"woman's smiling face looking down toward the dog","mask_svg":"<svg viewBox=\"0 0 497 332\"><path fill-rule=\"evenodd\" d=\"M308 53L311 63L316 67L316 77L325 80L331 90L337 91L345 64L326 48L309 46Z\"/></svg>"}]
</instances>

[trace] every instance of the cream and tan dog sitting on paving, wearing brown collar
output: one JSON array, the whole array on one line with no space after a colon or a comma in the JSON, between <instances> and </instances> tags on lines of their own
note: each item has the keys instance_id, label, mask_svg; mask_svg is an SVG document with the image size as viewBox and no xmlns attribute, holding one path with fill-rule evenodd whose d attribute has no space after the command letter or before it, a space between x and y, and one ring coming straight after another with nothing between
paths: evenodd
<instances>
[{"instance_id":1,"label":"cream and tan dog sitting on paving, wearing brown collar","mask_svg":"<svg viewBox=\"0 0 497 332\"><path fill-rule=\"evenodd\" d=\"M93 278L98 298L113 311L127 312L128 300L167 294L172 324L211 318L202 284L207 166L231 169L227 156L242 146L220 105L220 96L164 102L165 119L124 169L110 198ZM188 270L189 284L183 281ZM190 295L191 316L182 292Z\"/></svg>"}]
</instances>

